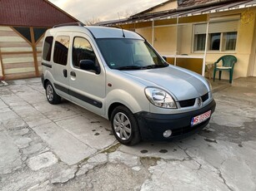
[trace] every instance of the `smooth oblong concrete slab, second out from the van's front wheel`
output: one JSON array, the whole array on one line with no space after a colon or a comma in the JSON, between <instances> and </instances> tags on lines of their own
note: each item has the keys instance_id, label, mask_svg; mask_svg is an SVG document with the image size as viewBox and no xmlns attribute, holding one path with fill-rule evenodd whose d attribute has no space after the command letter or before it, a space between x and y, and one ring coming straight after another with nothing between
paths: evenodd
<instances>
[{"instance_id":1,"label":"smooth oblong concrete slab, second out from the van's front wheel","mask_svg":"<svg viewBox=\"0 0 256 191\"><path fill-rule=\"evenodd\" d=\"M54 123L39 125L33 130L49 144L58 158L68 165L77 164L97 151Z\"/></svg>"}]
</instances>

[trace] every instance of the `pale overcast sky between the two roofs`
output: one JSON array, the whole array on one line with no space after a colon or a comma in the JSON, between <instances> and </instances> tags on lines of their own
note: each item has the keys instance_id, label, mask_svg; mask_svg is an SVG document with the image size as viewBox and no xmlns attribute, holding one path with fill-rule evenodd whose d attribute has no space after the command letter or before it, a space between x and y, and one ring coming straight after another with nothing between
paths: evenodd
<instances>
[{"instance_id":1,"label":"pale overcast sky between the two roofs","mask_svg":"<svg viewBox=\"0 0 256 191\"><path fill-rule=\"evenodd\" d=\"M127 17L167 0L49 0L81 22Z\"/></svg>"}]
</instances>

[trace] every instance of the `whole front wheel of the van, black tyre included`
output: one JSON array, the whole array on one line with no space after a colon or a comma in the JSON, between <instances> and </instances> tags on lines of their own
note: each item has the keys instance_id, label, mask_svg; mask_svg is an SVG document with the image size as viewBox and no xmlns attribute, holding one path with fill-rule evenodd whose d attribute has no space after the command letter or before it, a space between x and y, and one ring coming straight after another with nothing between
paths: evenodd
<instances>
[{"instance_id":1,"label":"whole front wheel of the van, black tyre included","mask_svg":"<svg viewBox=\"0 0 256 191\"><path fill-rule=\"evenodd\" d=\"M133 113L125 106L118 106L111 115L113 134L122 144L138 144L141 140L138 123Z\"/></svg>"}]
</instances>

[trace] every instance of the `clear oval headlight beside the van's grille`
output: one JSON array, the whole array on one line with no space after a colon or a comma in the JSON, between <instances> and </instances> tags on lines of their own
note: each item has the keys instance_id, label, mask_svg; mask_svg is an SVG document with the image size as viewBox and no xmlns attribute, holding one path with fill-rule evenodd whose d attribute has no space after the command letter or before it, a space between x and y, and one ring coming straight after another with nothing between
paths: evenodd
<instances>
[{"instance_id":1,"label":"clear oval headlight beside the van's grille","mask_svg":"<svg viewBox=\"0 0 256 191\"><path fill-rule=\"evenodd\" d=\"M173 97L168 92L158 88L148 87L145 89L145 94L148 100L158 107L177 109Z\"/></svg>"}]
</instances>

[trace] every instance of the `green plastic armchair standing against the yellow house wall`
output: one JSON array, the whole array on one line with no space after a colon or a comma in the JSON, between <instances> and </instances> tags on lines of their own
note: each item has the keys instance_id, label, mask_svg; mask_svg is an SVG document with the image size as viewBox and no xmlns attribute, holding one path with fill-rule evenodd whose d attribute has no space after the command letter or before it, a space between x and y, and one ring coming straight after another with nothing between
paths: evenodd
<instances>
[{"instance_id":1,"label":"green plastic armchair standing against the yellow house wall","mask_svg":"<svg viewBox=\"0 0 256 191\"><path fill-rule=\"evenodd\" d=\"M222 66L217 66L218 62L222 61ZM237 58L233 55L225 55L218 58L218 61L214 62L213 81L215 81L215 74L218 71L218 80L221 80L222 71L229 71L229 83L232 83L233 79L233 66L237 62Z\"/></svg>"}]
</instances>

